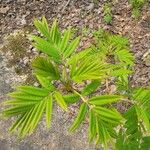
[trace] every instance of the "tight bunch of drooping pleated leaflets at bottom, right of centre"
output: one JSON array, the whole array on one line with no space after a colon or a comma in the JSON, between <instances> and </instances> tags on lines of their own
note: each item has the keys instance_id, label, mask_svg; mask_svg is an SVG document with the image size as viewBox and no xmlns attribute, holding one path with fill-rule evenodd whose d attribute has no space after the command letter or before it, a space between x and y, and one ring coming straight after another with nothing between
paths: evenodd
<instances>
[{"instance_id":1,"label":"tight bunch of drooping pleated leaflets at bottom, right of centre","mask_svg":"<svg viewBox=\"0 0 150 150\"><path fill-rule=\"evenodd\" d=\"M116 138L115 127L123 120L116 110L104 107L94 107L89 111L89 140L96 140L108 149L108 143Z\"/></svg>"}]
</instances>

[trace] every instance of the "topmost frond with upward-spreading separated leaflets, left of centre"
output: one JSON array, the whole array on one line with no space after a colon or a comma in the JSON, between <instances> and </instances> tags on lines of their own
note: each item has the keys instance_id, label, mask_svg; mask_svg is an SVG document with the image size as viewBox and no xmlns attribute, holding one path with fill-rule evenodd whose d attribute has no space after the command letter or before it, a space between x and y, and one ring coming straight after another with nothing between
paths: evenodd
<instances>
[{"instance_id":1,"label":"topmost frond with upward-spreading separated leaflets, left of centre","mask_svg":"<svg viewBox=\"0 0 150 150\"><path fill-rule=\"evenodd\" d=\"M42 21L35 19L34 25L44 36L44 38L31 36L31 39L34 41L34 46L50 56L55 62L60 62L69 57L79 44L79 37L70 41L72 38L71 28L65 30L63 36L61 35L56 20L53 22L51 29L49 29L48 23L44 17Z\"/></svg>"}]
</instances>

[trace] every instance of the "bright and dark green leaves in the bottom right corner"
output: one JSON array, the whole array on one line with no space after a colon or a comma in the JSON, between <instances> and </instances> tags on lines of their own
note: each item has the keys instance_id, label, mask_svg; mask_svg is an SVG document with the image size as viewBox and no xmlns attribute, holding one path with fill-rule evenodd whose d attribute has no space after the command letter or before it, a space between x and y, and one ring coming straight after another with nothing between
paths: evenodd
<instances>
[{"instance_id":1,"label":"bright and dark green leaves in the bottom right corner","mask_svg":"<svg viewBox=\"0 0 150 150\"><path fill-rule=\"evenodd\" d=\"M117 150L121 150L122 147L124 147L125 150L141 150L145 147L143 141L145 134L150 133L150 90L138 88L134 90L132 99L135 105L124 114L126 119L124 125L125 129L122 130L116 141Z\"/></svg>"}]
</instances>

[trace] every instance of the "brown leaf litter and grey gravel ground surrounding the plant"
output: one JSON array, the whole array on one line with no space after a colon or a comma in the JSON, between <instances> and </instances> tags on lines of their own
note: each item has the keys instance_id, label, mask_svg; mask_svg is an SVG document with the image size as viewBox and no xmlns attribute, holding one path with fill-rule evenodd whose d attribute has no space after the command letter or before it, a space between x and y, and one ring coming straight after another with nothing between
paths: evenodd
<instances>
[{"instance_id":1,"label":"brown leaf litter and grey gravel ground surrounding the plant","mask_svg":"<svg viewBox=\"0 0 150 150\"><path fill-rule=\"evenodd\" d=\"M58 18L62 29L73 26L82 28L104 28L129 38L131 50L136 56L135 73L132 86L147 87L150 85L150 3L142 10L142 17L135 20L131 15L131 6L126 0L119 0L113 6L113 23L103 22L102 5L99 0L94 5L92 0L71 0L68 5L65 0L0 0L0 44L5 43L5 37L15 30L32 26L33 17L45 15L52 23ZM84 47L90 41L83 40ZM9 52L0 53L0 101L13 86L25 80L26 75L17 75L13 68L7 67ZM74 134L69 135L67 127L70 116L55 108L52 129L46 130L42 121L35 134L23 140L8 133L10 120L0 120L0 150L95 150L95 146L87 142L87 127L84 125Z\"/></svg>"}]
</instances>

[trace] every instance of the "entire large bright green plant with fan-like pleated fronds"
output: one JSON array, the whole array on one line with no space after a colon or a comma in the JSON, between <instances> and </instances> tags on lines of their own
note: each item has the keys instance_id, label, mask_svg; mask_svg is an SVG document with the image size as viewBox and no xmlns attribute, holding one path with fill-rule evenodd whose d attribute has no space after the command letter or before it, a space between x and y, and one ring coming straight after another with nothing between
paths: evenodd
<instances>
[{"instance_id":1,"label":"entire large bright green plant with fan-like pleated fronds","mask_svg":"<svg viewBox=\"0 0 150 150\"><path fill-rule=\"evenodd\" d=\"M11 99L4 102L7 108L2 114L16 117L10 131L19 137L29 135L43 115L49 128L53 103L68 112L69 105L78 102L79 110L70 132L88 120L89 141L103 144L106 150L115 143L118 150L149 145L150 90L129 86L134 57L128 40L99 30L94 32L95 43L91 47L76 52L80 37L74 38L71 28L60 32L57 21L49 28L44 17L41 21L35 19L34 25L41 36L31 35L30 39L43 55L33 60L32 67L41 86L19 86L9 94ZM115 93L95 93L112 77L118 89ZM79 90L78 86L85 81L90 83ZM130 104L125 114L113 105L119 101Z\"/></svg>"}]
</instances>

